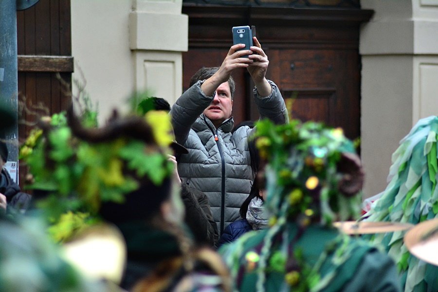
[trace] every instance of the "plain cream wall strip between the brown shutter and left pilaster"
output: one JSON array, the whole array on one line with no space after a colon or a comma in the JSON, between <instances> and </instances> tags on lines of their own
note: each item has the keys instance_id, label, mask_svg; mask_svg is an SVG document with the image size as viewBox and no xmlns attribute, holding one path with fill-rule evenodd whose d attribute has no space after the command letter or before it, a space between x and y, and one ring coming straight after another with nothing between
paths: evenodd
<instances>
[{"instance_id":1,"label":"plain cream wall strip between the brown shutter and left pilaster","mask_svg":"<svg viewBox=\"0 0 438 292\"><path fill-rule=\"evenodd\" d=\"M71 5L73 80L86 82L85 91L98 103L103 120L134 90L131 1L74 0ZM73 94L77 94L74 85Z\"/></svg>"}]
</instances>

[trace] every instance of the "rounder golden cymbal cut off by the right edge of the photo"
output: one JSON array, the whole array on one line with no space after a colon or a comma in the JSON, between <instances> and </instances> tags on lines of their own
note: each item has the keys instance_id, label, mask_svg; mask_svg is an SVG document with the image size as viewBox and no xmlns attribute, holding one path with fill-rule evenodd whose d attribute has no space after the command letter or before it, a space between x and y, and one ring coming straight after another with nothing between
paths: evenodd
<instances>
[{"instance_id":1,"label":"rounder golden cymbal cut off by the right edge of the photo","mask_svg":"<svg viewBox=\"0 0 438 292\"><path fill-rule=\"evenodd\" d=\"M403 241L412 255L438 266L438 219L415 225L404 235Z\"/></svg>"}]
</instances>

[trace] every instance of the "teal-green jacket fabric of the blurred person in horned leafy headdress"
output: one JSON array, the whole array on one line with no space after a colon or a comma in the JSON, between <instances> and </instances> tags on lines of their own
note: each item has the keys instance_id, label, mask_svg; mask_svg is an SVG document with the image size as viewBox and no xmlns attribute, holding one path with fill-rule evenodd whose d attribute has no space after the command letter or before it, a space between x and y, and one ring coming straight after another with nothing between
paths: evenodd
<instances>
[{"instance_id":1,"label":"teal-green jacket fabric of the blurred person in horned leafy headdress","mask_svg":"<svg viewBox=\"0 0 438 292\"><path fill-rule=\"evenodd\" d=\"M283 240L279 239L273 244L270 251L272 256L275 251L289 246L297 233L297 226L288 223L286 226L289 236L288 244L284 245ZM238 238L231 244L220 248L219 253L223 256L226 264L233 269L237 268L235 274L235 288L237 291L257 291L257 267L250 267L245 256L248 252L260 252L263 240L268 230L250 232ZM304 262L314 267L321 255L330 244L336 241L339 233L335 229L329 229L320 225L310 225L304 234L294 243L294 250L300 248L303 252ZM328 245L329 244L329 245ZM379 252L370 244L358 238L350 238L347 250L349 255L340 265L333 264L334 251L328 252L323 258L322 264L318 269L320 275L319 288L310 291L324 292L399 292L400 282L394 262L385 254ZM272 258L272 257L271 257ZM294 291L285 282L285 272L271 271L266 272L265 291L281 292ZM327 281L325 285L322 282Z\"/></svg>"}]
</instances>

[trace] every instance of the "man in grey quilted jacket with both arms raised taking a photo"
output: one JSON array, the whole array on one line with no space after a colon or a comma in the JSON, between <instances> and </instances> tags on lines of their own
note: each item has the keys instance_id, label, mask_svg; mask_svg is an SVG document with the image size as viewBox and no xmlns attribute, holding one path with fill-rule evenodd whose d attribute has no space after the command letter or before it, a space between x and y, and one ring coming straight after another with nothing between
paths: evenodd
<instances>
[{"instance_id":1,"label":"man in grey quilted jacket with both arms raised taking a photo","mask_svg":"<svg viewBox=\"0 0 438 292\"><path fill-rule=\"evenodd\" d=\"M207 195L220 234L239 218L240 205L256 175L249 152L252 140L248 139L255 129L245 126L231 133L236 89L231 73L237 68L248 70L256 85L254 98L261 118L277 124L289 122L278 87L265 77L268 57L257 38L253 40L255 46L250 50L238 51L245 45L233 45L220 67L203 67L195 73L190 88L170 111L176 140L189 152L179 157L180 177Z\"/></svg>"}]
</instances>

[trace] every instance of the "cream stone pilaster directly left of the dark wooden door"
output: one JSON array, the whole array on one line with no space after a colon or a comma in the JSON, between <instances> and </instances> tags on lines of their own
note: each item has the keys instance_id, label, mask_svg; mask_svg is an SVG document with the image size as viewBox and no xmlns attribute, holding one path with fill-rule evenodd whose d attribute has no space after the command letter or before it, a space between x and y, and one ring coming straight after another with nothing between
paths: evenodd
<instances>
[{"instance_id":1,"label":"cream stone pilaster directly left of the dark wooden door","mask_svg":"<svg viewBox=\"0 0 438 292\"><path fill-rule=\"evenodd\" d=\"M134 0L129 14L135 89L170 104L182 93L182 52L188 49L188 17L181 9L182 0Z\"/></svg>"}]
</instances>

